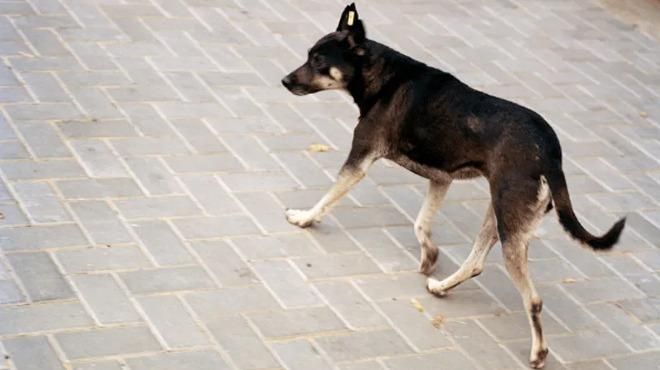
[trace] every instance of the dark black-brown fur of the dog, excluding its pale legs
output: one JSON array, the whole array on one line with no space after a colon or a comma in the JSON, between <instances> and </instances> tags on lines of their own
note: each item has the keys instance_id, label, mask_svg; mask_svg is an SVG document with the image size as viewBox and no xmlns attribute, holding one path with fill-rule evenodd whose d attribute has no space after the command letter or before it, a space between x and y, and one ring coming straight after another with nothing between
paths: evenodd
<instances>
[{"instance_id":1,"label":"dark black-brown fur of the dog, excluding its pale legs","mask_svg":"<svg viewBox=\"0 0 660 370\"><path fill-rule=\"evenodd\" d=\"M351 11L354 19L348 24ZM609 249L618 241L625 219L600 237L578 221L562 171L559 140L539 114L475 90L365 35L351 4L337 31L321 38L310 49L308 61L282 81L299 95L332 86L353 97L360 118L342 173L362 171L366 159L373 157L390 159L439 183L484 176L497 236L511 256L522 252L507 250L516 248L509 239L526 248L521 235L533 231L532 209L542 201L539 184L547 181L550 196L547 203L541 202L541 215L554 204L564 229L593 249ZM332 75L332 68L341 73ZM332 82L337 76L341 79ZM526 260L526 250L524 255ZM435 262L435 256L431 258ZM540 300L528 310L533 329L541 335ZM532 366L543 366L546 355L547 348L533 354Z\"/></svg>"}]
</instances>

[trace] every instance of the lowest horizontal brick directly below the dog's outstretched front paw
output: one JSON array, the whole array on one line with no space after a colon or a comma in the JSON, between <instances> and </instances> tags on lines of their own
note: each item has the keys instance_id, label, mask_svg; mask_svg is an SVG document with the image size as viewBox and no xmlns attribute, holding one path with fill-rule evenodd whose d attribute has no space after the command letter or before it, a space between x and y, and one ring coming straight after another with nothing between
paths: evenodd
<instances>
[{"instance_id":1,"label":"lowest horizontal brick directly below the dog's outstretched front paw","mask_svg":"<svg viewBox=\"0 0 660 370\"><path fill-rule=\"evenodd\" d=\"M300 308L249 315L266 338L342 330L344 324L326 307Z\"/></svg>"}]
</instances>

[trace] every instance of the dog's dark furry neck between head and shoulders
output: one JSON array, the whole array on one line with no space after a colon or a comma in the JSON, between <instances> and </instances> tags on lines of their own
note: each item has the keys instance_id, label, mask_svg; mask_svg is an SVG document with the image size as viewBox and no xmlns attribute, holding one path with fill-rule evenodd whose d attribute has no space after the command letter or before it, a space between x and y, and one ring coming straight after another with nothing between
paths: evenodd
<instances>
[{"instance_id":1,"label":"dog's dark furry neck between head and shoulders","mask_svg":"<svg viewBox=\"0 0 660 370\"><path fill-rule=\"evenodd\" d=\"M397 88L422 72L426 65L372 40L364 43L365 56L347 86L348 93L366 116L381 99L388 99Z\"/></svg>"}]
</instances>

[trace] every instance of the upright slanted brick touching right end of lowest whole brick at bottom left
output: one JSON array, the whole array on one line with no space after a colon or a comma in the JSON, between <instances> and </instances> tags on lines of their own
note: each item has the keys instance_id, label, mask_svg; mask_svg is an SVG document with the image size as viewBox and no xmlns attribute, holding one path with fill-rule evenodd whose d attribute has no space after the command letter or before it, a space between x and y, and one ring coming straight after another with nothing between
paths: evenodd
<instances>
[{"instance_id":1,"label":"upright slanted brick touching right end of lowest whole brick at bottom left","mask_svg":"<svg viewBox=\"0 0 660 370\"><path fill-rule=\"evenodd\" d=\"M195 323L177 297L141 297L138 301L170 348L210 344L207 335ZM176 318L176 320L172 320L172 318Z\"/></svg>"}]
</instances>

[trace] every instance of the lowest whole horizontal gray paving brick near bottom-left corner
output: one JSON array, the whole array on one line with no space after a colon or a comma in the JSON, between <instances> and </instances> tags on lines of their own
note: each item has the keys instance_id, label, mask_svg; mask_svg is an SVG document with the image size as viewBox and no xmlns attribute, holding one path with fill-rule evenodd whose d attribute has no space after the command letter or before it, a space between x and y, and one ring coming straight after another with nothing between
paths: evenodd
<instances>
[{"instance_id":1,"label":"lowest whole horizontal gray paving brick near bottom-left corner","mask_svg":"<svg viewBox=\"0 0 660 370\"><path fill-rule=\"evenodd\" d=\"M160 349L149 329L142 326L61 333L55 338L70 360Z\"/></svg>"}]
</instances>

